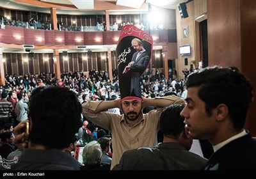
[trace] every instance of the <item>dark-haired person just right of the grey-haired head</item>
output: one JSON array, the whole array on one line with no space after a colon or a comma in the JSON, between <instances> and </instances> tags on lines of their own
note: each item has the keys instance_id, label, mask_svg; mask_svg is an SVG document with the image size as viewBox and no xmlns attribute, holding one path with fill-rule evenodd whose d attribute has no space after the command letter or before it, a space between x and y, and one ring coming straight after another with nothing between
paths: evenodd
<instances>
[{"instance_id":1,"label":"dark-haired person just right of the grey-haired head","mask_svg":"<svg viewBox=\"0 0 256 179\"><path fill-rule=\"evenodd\" d=\"M110 149L110 141L108 137L100 137L98 139L98 143L100 144L100 147L102 149L102 156L101 156L101 162L104 164L109 164L111 166L112 159L109 157L108 152Z\"/></svg>"}]
</instances>

